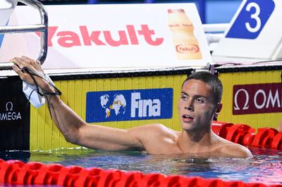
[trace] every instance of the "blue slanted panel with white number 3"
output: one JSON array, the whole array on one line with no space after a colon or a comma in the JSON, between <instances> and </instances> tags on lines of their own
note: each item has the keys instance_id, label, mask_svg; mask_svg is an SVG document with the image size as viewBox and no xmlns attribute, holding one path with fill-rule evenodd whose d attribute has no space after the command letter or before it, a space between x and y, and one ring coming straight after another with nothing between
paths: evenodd
<instances>
[{"instance_id":1,"label":"blue slanted panel with white number 3","mask_svg":"<svg viewBox=\"0 0 282 187\"><path fill-rule=\"evenodd\" d=\"M256 39L274 8L273 0L247 0L226 38Z\"/></svg>"}]
</instances>

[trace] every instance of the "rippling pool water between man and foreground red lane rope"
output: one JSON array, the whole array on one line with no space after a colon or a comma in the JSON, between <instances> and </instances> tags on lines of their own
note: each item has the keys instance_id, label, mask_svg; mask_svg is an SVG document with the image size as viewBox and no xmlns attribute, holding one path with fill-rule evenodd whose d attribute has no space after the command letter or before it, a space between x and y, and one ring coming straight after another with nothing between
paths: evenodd
<instances>
[{"instance_id":1,"label":"rippling pool water between man and foreground red lane rope","mask_svg":"<svg viewBox=\"0 0 282 187\"><path fill-rule=\"evenodd\" d=\"M191 155L147 155L137 152L104 152L87 149L49 152L2 151L4 160L59 163L64 166L99 167L161 173L166 175L202 176L225 181L244 181L282 185L282 150L250 148L252 159L193 157Z\"/></svg>"}]
</instances>

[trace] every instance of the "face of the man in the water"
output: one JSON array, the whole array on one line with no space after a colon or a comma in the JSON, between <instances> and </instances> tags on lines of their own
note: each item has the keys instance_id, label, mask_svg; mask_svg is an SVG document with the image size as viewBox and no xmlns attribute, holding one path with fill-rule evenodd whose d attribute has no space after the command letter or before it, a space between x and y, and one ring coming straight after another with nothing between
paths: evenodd
<instances>
[{"instance_id":1,"label":"face of the man in the water","mask_svg":"<svg viewBox=\"0 0 282 187\"><path fill-rule=\"evenodd\" d=\"M178 102L180 124L185 131L205 131L216 111L211 87L197 79L183 84Z\"/></svg>"}]
</instances>

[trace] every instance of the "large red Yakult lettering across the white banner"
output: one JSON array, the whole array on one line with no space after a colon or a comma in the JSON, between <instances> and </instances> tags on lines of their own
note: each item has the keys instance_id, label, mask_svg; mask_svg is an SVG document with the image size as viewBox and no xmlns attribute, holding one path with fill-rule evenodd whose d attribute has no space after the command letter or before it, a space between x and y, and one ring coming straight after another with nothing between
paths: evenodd
<instances>
[{"instance_id":1,"label":"large red Yakult lettering across the white banner","mask_svg":"<svg viewBox=\"0 0 282 187\"><path fill-rule=\"evenodd\" d=\"M151 46L159 46L164 38L155 37L155 31L149 25L140 25L139 29L135 25L125 25L125 30L89 30L87 26L79 26L80 32L71 30L60 30L58 26L48 27L48 46L59 46L70 48L75 46L122 46L139 45L143 40ZM114 32L118 37L113 37ZM37 32L39 35L39 32Z\"/></svg>"}]
</instances>

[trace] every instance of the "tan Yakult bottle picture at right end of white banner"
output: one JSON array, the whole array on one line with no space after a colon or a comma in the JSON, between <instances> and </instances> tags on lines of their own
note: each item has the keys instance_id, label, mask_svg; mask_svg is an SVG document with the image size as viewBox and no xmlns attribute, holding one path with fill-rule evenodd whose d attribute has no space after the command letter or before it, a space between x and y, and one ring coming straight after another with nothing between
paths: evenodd
<instances>
[{"instance_id":1,"label":"tan Yakult bottle picture at right end of white banner","mask_svg":"<svg viewBox=\"0 0 282 187\"><path fill-rule=\"evenodd\" d=\"M194 26L183 9L168 9L168 26L173 33L173 44L179 60L201 59Z\"/></svg>"}]
</instances>

